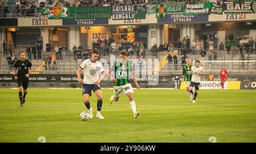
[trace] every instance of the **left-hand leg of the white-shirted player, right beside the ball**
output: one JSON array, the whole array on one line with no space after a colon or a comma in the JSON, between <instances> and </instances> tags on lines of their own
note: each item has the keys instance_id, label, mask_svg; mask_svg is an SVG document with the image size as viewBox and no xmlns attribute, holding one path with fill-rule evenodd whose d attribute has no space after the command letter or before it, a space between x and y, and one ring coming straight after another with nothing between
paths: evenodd
<instances>
[{"instance_id":1,"label":"left-hand leg of the white-shirted player, right beside the ball","mask_svg":"<svg viewBox=\"0 0 256 154\"><path fill-rule=\"evenodd\" d=\"M83 84L82 86L83 86L82 96L84 97L84 105L88 109L90 118L93 118L92 107L90 107L90 102L89 102L89 97L92 95L92 88L90 85L87 85L87 84Z\"/></svg>"}]
</instances>

